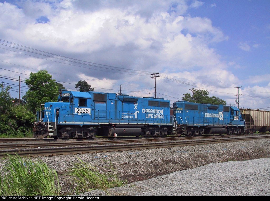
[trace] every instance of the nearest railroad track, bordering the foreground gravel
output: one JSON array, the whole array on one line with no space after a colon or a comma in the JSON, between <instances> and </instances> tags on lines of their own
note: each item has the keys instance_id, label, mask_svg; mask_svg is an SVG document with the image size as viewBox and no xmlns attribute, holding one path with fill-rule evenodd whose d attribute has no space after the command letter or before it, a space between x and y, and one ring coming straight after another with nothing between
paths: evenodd
<instances>
[{"instance_id":1,"label":"nearest railroad track, bordering the foreground gravel","mask_svg":"<svg viewBox=\"0 0 270 201\"><path fill-rule=\"evenodd\" d=\"M265 139L270 138L270 135L256 135L256 136L229 136L226 138L193 138L193 139L148 139L147 141L137 140L137 142L127 142L123 140L121 142L114 141L110 142L109 145L97 144L96 145L79 145L68 146L68 147L50 147L50 148L30 148L30 149L11 149L11 150L0 150L0 158L9 155L19 155L21 157L25 156L50 156L50 155L62 155L62 154L77 154L77 153L89 153L89 152L107 152L115 150L134 150L134 149L149 149L149 148L161 148L161 147L171 147L171 146L188 146L188 145L198 145L207 143L224 143L232 141L243 141L243 140L254 140L254 139ZM151 141L150 141L151 140ZM163 141L161 141L163 140ZM104 143L104 142L102 142ZM18 145L17 145L18 148Z\"/></svg>"}]
</instances>

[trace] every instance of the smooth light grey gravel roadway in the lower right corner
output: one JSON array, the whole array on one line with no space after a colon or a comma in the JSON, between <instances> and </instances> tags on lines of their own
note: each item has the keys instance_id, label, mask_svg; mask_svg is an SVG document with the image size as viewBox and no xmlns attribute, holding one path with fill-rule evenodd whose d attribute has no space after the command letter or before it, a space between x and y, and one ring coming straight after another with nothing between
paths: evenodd
<instances>
[{"instance_id":1,"label":"smooth light grey gravel roadway in the lower right corner","mask_svg":"<svg viewBox=\"0 0 270 201\"><path fill-rule=\"evenodd\" d=\"M212 163L83 195L270 195L270 159Z\"/></svg>"}]
</instances>

